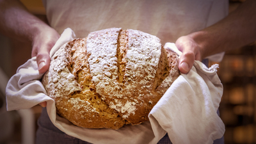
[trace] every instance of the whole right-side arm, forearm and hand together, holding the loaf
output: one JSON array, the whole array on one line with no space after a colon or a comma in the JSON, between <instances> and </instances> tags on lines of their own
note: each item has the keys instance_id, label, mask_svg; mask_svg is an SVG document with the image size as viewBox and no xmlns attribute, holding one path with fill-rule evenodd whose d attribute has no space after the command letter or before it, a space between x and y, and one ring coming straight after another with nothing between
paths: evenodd
<instances>
[{"instance_id":1,"label":"whole right-side arm, forearm and hand together, holding the loaf","mask_svg":"<svg viewBox=\"0 0 256 144\"><path fill-rule=\"evenodd\" d=\"M252 44L256 40L256 1L244 1L228 17L208 28L181 36L179 70L186 74L195 60Z\"/></svg>"}]
</instances>

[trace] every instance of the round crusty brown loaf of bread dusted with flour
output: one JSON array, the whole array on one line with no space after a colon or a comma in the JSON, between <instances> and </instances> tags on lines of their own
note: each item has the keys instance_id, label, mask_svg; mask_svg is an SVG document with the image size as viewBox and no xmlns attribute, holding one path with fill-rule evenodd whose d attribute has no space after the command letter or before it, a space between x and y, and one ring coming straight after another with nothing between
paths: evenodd
<instances>
[{"instance_id":1,"label":"round crusty brown loaf of bread dusted with flour","mask_svg":"<svg viewBox=\"0 0 256 144\"><path fill-rule=\"evenodd\" d=\"M177 54L159 38L109 28L61 46L42 83L58 115L74 125L119 129L147 121L179 75Z\"/></svg>"}]
</instances>

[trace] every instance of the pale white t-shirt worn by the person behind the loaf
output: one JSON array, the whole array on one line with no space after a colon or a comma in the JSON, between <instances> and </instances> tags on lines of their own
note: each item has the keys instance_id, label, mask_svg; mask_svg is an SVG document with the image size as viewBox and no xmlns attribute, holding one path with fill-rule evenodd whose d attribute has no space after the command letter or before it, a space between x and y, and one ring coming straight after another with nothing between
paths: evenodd
<instances>
[{"instance_id":1,"label":"pale white t-shirt worn by the person behind the loaf","mask_svg":"<svg viewBox=\"0 0 256 144\"><path fill-rule=\"evenodd\" d=\"M43 0L52 28L77 37L106 28L138 29L162 44L204 29L228 15L227 0Z\"/></svg>"}]
</instances>

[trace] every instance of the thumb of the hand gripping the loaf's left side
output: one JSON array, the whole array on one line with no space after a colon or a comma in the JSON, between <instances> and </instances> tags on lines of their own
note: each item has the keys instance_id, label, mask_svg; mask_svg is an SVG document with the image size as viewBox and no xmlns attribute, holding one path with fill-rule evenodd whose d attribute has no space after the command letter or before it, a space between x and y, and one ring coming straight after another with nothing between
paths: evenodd
<instances>
[{"instance_id":1,"label":"thumb of the hand gripping the loaf's left side","mask_svg":"<svg viewBox=\"0 0 256 144\"><path fill-rule=\"evenodd\" d=\"M49 53L38 53L36 55L36 63L38 66L38 71L40 74L44 74L50 65L51 58L49 56Z\"/></svg>"}]
</instances>

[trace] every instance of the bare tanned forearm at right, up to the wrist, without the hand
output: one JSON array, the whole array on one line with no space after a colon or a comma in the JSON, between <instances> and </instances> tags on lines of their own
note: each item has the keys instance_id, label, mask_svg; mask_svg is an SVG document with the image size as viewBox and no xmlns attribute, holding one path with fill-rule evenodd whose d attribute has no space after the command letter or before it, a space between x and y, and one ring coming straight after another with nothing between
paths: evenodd
<instances>
[{"instance_id":1,"label":"bare tanned forearm at right, up to the wrist, without the hand","mask_svg":"<svg viewBox=\"0 0 256 144\"><path fill-rule=\"evenodd\" d=\"M191 33L201 58L250 44L256 40L256 1L245 1L220 22Z\"/></svg>"}]
</instances>

